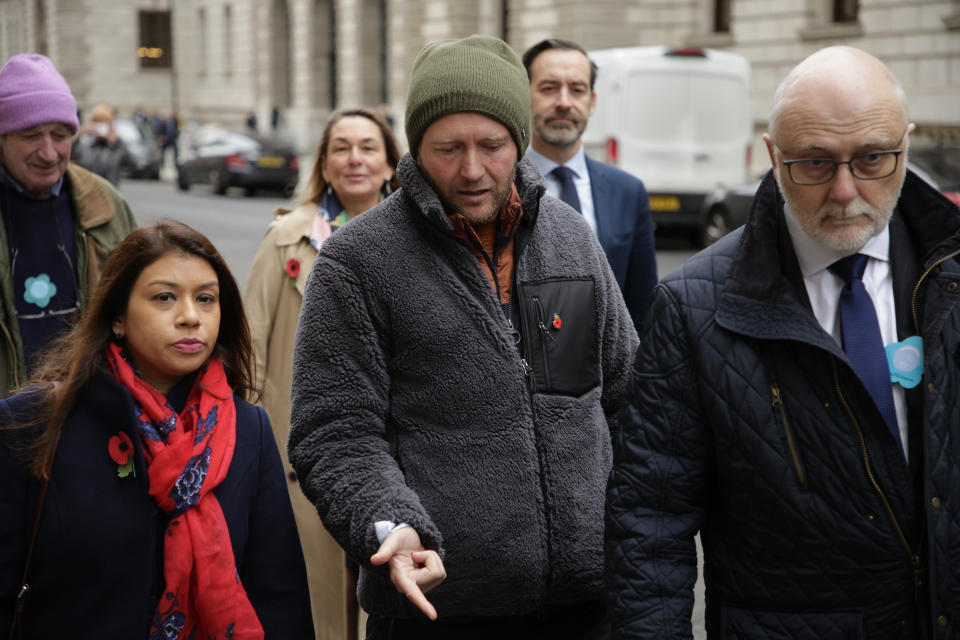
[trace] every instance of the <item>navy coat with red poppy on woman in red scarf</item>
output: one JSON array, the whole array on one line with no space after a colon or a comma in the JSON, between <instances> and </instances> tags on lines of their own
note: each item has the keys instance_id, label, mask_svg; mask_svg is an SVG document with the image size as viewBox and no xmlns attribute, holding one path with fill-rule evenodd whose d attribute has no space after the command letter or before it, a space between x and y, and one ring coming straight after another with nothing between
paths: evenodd
<instances>
[{"instance_id":1,"label":"navy coat with red poppy on woman in red scarf","mask_svg":"<svg viewBox=\"0 0 960 640\"><path fill-rule=\"evenodd\" d=\"M237 442L214 489L237 568L267 638L314 638L307 576L280 455L266 413L234 398ZM36 415L29 392L0 401L0 424ZM163 588L166 517L147 494L130 393L105 371L64 425L30 570L26 638L147 638ZM125 431L136 477L117 476L107 442ZM17 446L28 433L0 429ZM38 483L0 444L0 633L23 572Z\"/></svg>"}]
</instances>

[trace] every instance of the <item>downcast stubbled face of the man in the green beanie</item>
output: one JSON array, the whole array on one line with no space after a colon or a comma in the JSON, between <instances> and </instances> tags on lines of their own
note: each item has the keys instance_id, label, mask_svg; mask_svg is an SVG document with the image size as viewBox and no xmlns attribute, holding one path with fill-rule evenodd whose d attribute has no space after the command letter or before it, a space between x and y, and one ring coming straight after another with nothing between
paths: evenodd
<instances>
[{"instance_id":1,"label":"downcast stubbled face of the man in the green beanie","mask_svg":"<svg viewBox=\"0 0 960 640\"><path fill-rule=\"evenodd\" d=\"M417 163L448 213L480 225L496 218L510 195L517 145L493 118L452 113L427 127Z\"/></svg>"}]
</instances>

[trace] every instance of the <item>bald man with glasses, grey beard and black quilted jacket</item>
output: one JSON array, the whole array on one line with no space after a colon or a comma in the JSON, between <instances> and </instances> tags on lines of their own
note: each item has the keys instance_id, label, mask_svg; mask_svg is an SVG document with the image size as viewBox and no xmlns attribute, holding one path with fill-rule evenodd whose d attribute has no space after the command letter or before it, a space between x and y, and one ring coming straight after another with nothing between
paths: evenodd
<instances>
[{"instance_id":1,"label":"bald man with glasses, grey beard and black quilted jacket","mask_svg":"<svg viewBox=\"0 0 960 640\"><path fill-rule=\"evenodd\" d=\"M746 226L657 287L607 494L614 638L960 637L960 215L876 58L777 89Z\"/></svg>"}]
</instances>

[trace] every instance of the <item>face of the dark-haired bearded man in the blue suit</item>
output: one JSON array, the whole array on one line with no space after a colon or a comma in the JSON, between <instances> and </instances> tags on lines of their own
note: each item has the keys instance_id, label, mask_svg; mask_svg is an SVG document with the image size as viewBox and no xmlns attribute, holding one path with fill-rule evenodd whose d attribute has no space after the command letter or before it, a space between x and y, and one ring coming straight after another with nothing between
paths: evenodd
<instances>
[{"instance_id":1,"label":"face of the dark-haired bearded man in the blue suit","mask_svg":"<svg viewBox=\"0 0 960 640\"><path fill-rule=\"evenodd\" d=\"M548 49L530 65L534 146L577 144L597 105L590 89L590 61L579 51Z\"/></svg>"}]
</instances>

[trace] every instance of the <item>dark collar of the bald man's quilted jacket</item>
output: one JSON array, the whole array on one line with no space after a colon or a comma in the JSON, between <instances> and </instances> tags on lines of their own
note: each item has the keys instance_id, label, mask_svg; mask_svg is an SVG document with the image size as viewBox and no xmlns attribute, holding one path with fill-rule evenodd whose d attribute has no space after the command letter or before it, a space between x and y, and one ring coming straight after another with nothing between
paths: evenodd
<instances>
[{"instance_id":1,"label":"dark collar of the bald man's quilted jacket","mask_svg":"<svg viewBox=\"0 0 960 640\"><path fill-rule=\"evenodd\" d=\"M910 171L897 207L924 268L960 250L956 207ZM717 322L756 338L798 340L842 355L809 309L786 229L783 197L771 171L757 190L742 230L730 277L717 302Z\"/></svg>"}]
</instances>

